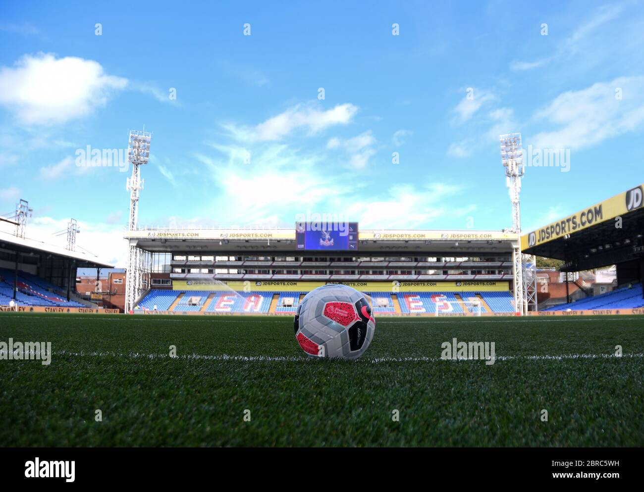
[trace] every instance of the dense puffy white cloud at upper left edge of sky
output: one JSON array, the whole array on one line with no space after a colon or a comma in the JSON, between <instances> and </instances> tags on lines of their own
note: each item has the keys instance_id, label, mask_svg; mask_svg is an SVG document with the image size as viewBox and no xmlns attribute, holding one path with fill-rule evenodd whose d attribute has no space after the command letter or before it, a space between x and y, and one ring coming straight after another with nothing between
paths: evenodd
<instances>
[{"instance_id":1,"label":"dense puffy white cloud at upper left edge of sky","mask_svg":"<svg viewBox=\"0 0 644 492\"><path fill-rule=\"evenodd\" d=\"M0 69L0 105L23 123L61 123L92 113L127 84L93 60L25 55L14 68Z\"/></svg>"}]
</instances>

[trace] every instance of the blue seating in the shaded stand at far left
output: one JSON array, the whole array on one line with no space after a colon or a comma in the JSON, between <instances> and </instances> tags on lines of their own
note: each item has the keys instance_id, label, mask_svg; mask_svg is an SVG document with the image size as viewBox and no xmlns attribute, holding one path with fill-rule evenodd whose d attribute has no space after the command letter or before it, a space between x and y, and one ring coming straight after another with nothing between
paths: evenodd
<instances>
[{"instance_id":1,"label":"blue seating in the shaded stand at far left","mask_svg":"<svg viewBox=\"0 0 644 492\"><path fill-rule=\"evenodd\" d=\"M8 305L13 298L14 278L14 271L0 268L0 305ZM44 278L19 271L15 302L17 305L24 306L86 307L84 304L73 300L68 301L52 292L60 289L61 287L53 285Z\"/></svg>"}]
</instances>

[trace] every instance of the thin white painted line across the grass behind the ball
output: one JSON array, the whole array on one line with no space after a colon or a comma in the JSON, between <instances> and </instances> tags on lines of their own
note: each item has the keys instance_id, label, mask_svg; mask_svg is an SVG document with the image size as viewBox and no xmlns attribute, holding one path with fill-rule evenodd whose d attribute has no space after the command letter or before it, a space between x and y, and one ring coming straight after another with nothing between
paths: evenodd
<instances>
[{"instance_id":1,"label":"thin white painted line across the grass behind the ball","mask_svg":"<svg viewBox=\"0 0 644 492\"><path fill-rule=\"evenodd\" d=\"M189 354L189 355L180 355L176 357L171 357L169 354L141 354L139 352L129 352L127 354L122 354L118 352L70 352L70 351L59 351L52 352L52 357L55 355L68 355L68 356L77 356L77 357L121 357L129 359L178 359L178 360L209 360L209 361L241 361L241 362L298 362L298 361L307 361L311 360L310 357L295 357L295 356L231 356L227 354L222 354L218 356L214 355L203 355L203 354ZM562 354L562 355L544 355L544 356L497 356L495 360L497 361L506 361L506 360L571 360L571 359L620 359L620 358L644 358L644 353L636 354L622 354L621 356L616 356L614 354ZM439 357L374 357L374 358L363 358L363 360L368 360L372 363L382 363L382 362L440 362L446 359L441 359ZM474 360L474 359L460 359L460 360ZM483 360L483 359L480 359Z\"/></svg>"}]
</instances>

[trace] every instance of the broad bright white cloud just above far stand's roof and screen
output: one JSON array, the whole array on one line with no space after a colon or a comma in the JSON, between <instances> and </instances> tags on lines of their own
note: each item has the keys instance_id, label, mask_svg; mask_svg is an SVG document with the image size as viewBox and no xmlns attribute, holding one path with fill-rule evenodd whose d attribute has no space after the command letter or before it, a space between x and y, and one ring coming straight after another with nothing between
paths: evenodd
<instances>
[{"instance_id":1,"label":"broad bright white cloud just above far stand's roof and screen","mask_svg":"<svg viewBox=\"0 0 644 492\"><path fill-rule=\"evenodd\" d=\"M329 147L360 155L374 142L370 132L365 132L347 140L331 139ZM212 211L213 216L225 217L225 223L217 224L220 226L292 226L296 214L310 212L337 214L366 227L406 228L427 226L444 217L462 217L476 208L467 202L453 208L454 196L462 188L440 183L392 185L370 192L365 200L356 192L359 183L354 170L329 172L323 154L302 154L283 144L252 148L252 164L246 165L233 157L241 154L243 147L220 146L219 150L223 158L204 154L195 158L205 165L204 175L217 187L213 202L204 206L204 215ZM418 183L427 182L431 179L418 179ZM197 224L204 221L209 219L194 219Z\"/></svg>"}]
</instances>

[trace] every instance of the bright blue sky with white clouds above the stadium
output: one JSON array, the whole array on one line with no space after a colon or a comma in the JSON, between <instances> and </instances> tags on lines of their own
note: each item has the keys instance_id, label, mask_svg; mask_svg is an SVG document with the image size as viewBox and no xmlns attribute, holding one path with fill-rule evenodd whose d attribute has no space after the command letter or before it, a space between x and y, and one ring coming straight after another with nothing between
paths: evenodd
<instances>
[{"instance_id":1,"label":"bright blue sky with white clouds above the stadium","mask_svg":"<svg viewBox=\"0 0 644 492\"><path fill-rule=\"evenodd\" d=\"M145 10L0 5L0 213L28 199L32 235L58 241L74 217L78 244L122 264L129 172L79 167L76 152L124 149L144 124L141 225L290 227L308 211L500 230L498 135L516 131L570 155L565 169L527 167L524 230L643 181L641 3Z\"/></svg>"}]
</instances>

